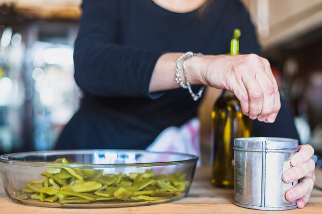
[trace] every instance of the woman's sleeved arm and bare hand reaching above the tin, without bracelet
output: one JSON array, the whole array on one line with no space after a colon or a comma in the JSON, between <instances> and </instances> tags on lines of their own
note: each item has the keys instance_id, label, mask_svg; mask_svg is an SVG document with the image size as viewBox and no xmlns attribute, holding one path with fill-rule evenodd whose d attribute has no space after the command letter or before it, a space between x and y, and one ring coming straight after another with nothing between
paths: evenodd
<instances>
[{"instance_id":1,"label":"woman's sleeved arm and bare hand reaching above the tin, without bracelet","mask_svg":"<svg viewBox=\"0 0 322 214\"><path fill-rule=\"evenodd\" d=\"M85 91L100 96L150 96L179 87L174 82L175 61L181 53L163 53L117 45L119 1L84 0L75 43L75 80ZM207 55L188 63L191 84L234 92L243 113L273 122L279 93L267 60L255 55Z\"/></svg>"}]
</instances>

